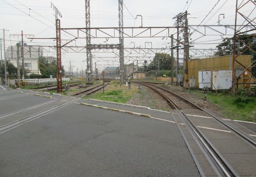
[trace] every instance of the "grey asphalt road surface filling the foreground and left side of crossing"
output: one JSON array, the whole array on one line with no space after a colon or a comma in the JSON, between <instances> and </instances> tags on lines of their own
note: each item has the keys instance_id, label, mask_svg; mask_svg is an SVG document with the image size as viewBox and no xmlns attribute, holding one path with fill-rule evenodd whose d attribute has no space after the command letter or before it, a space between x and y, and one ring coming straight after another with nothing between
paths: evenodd
<instances>
[{"instance_id":1,"label":"grey asphalt road surface filling the foreground and left side of crossing","mask_svg":"<svg viewBox=\"0 0 256 177\"><path fill-rule=\"evenodd\" d=\"M0 114L45 99L10 97ZM0 176L200 176L176 124L76 103L0 134L0 149Z\"/></svg>"}]
</instances>

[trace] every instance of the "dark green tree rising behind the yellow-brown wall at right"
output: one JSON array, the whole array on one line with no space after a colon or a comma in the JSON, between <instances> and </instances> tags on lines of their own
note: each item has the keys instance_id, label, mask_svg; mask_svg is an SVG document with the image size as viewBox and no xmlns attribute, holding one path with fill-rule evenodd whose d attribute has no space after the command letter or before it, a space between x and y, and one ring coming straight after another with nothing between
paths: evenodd
<instances>
[{"instance_id":1,"label":"dark green tree rising behind the yellow-brown wall at right","mask_svg":"<svg viewBox=\"0 0 256 177\"><path fill-rule=\"evenodd\" d=\"M252 39L252 35L241 35L239 36L239 39L243 41L245 44L247 44L249 41L252 45L250 48L254 51L256 51L256 40ZM244 51L247 47L243 44L243 42L240 42L239 40L236 40L236 50L235 54L237 54L239 51ZM224 56L224 55L232 55L233 54L233 46L234 46L234 37L231 38L224 38L222 43L217 45L218 51L215 53L215 55L218 56ZM252 55L252 62L256 60L256 54L250 49L243 52L242 55ZM255 64L255 63L254 63ZM252 75L256 77L256 66L252 67Z\"/></svg>"}]
</instances>

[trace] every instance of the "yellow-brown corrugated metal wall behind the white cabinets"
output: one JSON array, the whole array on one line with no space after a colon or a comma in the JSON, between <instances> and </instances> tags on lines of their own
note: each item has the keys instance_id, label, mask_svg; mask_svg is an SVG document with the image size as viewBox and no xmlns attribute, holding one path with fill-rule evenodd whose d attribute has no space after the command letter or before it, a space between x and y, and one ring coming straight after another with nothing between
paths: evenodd
<instances>
[{"instance_id":1,"label":"yellow-brown corrugated metal wall behind the white cabinets","mask_svg":"<svg viewBox=\"0 0 256 177\"><path fill-rule=\"evenodd\" d=\"M197 59L191 60L188 63L188 73L189 76L194 76L196 80L196 87L198 84L198 71L201 70L232 70L232 55L226 55L222 57L213 57L207 59ZM249 66L251 64L251 55L240 55L237 58L244 66ZM242 68L236 63L235 68Z\"/></svg>"}]
</instances>

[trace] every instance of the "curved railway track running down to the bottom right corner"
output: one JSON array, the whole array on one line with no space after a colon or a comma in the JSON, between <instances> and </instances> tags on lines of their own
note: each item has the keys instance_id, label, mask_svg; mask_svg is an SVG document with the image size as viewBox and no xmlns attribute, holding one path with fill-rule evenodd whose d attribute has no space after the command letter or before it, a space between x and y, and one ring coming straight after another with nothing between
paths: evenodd
<instances>
[{"instance_id":1,"label":"curved railway track running down to the bottom right corner","mask_svg":"<svg viewBox=\"0 0 256 177\"><path fill-rule=\"evenodd\" d=\"M149 87L150 89L154 90L158 94L160 94L165 100L167 100L171 107L176 111L180 119L182 120L183 124L187 127L189 131L193 133L195 138L198 141L198 146L202 148L202 151L206 153L206 159L212 164L214 164L213 169L215 170L215 173L217 175L225 175L225 176L239 176L232 168L232 166L224 159L224 157L221 155L221 153L216 149L216 147L213 146L213 144L210 142L210 140L200 131L190 119L189 117L182 112L183 109L197 109L200 111L205 112L211 118L219 122L221 125L224 127L228 128L232 133L236 134L241 138L243 141L245 141L247 144L250 146L254 147L256 149L256 142L253 140L253 138L245 133L244 131L241 131L232 125L224 122L217 116L215 116L213 113L206 109L202 109L192 103L191 101L187 100L186 98L183 98L182 96L179 96L178 94L175 94L174 92L171 92L170 90L164 89L162 87L159 87L157 85L151 84L151 83L144 83L144 82L137 82L135 81L134 83L139 83L141 85L145 85ZM174 118L175 120L175 118ZM184 134L182 132L182 129L180 128L180 123L175 120L180 132L182 133L182 136L184 137ZM185 140L186 138L184 138ZM190 145L188 142L186 142L187 146L189 147ZM192 155L192 154L191 154ZM193 156L193 155L192 155ZM199 170L200 171L200 170Z\"/></svg>"}]
</instances>

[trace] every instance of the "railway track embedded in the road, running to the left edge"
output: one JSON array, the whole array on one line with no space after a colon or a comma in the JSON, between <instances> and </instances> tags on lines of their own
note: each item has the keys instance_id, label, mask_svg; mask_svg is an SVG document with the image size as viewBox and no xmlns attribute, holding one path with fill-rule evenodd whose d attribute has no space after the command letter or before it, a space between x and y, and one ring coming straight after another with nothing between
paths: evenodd
<instances>
[{"instance_id":1,"label":"railway track embedded in the road, running to the left edge","mask_svg":"<svg viewBox=\"0 0 256 177\"><path fill-rule=\"evenodd\" d=\"M108 85L108 84L107 84ZM83 90L81 92L72 94L71 96L66 96L63 98L59 98L56 100L46 101L44 103L40 103L37 105L33 105L31 107L27 107L24 109L20 109L18 111L9 112L7 114L0 115L0 134L9 131L10 129L13 129L15 127L18 127L20 125L26 124L26 122L30 122L32 120L35 120L37 118L40 118L41 116L44 116L45 114L49 114L50 112L56 111L58 109L61 109L67 105L70 105L71 103L74 103L77 100L80 100L85 95L92 94L103 87L106 87L106 85L97 85L93 88ZM73 96L77 96L77 98L74 98ZM68 100L66 102L58 103L58 101L71 98L71 100ZM56 104L57 103L57 104ZM56 104L56 105L54 105ZM42 109L43 107L48 107L46 109ZM42 109L41 111L36 111L37 109ZM29 114L28 112L32 111L32 114ZM34 112L34 113L33 113ZM22 115L24 114L24 115ZM29 115L27 115L29 114ZM22 118L21 118L22 117Z\"/></svg>"}]
</instances>

